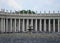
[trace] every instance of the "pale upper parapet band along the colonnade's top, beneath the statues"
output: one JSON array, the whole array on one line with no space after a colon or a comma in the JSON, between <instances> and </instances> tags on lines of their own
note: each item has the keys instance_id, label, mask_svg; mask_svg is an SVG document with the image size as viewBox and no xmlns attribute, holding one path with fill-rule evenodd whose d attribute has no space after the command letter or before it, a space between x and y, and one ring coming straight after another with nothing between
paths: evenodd
<instances>
[{"instance_id":1,"label":"pale upper parapet band along the colonnade's top, beneath the statues","mask_svg":"<svg viewBox=\"0 0 60 43\"><path fill-rule=\"evenodd\" d=\"M11 16L60 16L60 13L42 13L42 14L10 14L10 13L0 13L0 15L11 15Z\"/></svg>"}]
</instances>

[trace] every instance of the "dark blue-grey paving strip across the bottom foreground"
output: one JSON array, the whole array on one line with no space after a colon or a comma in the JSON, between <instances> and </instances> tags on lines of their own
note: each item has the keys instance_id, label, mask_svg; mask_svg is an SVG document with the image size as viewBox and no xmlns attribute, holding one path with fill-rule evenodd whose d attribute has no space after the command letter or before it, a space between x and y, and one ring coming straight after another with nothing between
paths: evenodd
<instances>
[{"instance_id":1,"label":"dark blue-grey paving strip across the bottom foreground","mask_svg":"<svg viewBox=\"0 0 60 43\"><path fill-rule=\"evenodd\" d=\"M60 43L60 38L10 38L0 37L0 43Z\"/></svg>"}]
</instances>

